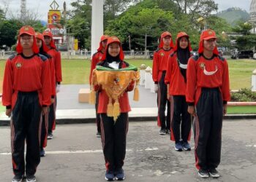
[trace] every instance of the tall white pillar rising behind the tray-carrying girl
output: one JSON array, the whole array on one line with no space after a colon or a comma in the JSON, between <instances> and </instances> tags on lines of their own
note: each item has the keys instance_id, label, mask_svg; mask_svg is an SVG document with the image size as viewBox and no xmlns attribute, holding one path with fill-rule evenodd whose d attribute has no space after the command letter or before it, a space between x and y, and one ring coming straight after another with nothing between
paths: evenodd
<instances>
[{"instance_id":1,"label":"tall white pillar rising behind the tray-carrying girl","mask_svg":"<svg viewBox=\"0 0 256 182\"><path fill-rule=\"evenodd\" d=\"M103 0L92 0L91 2L91 57L96 52L100 36L103 35Z\"/></svg>"}]
</instances>

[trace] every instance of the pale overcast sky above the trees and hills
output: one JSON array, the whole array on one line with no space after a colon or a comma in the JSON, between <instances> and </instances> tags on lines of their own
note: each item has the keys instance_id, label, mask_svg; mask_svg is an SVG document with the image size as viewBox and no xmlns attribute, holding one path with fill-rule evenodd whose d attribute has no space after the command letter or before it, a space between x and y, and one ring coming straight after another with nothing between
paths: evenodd
<instances>
[{"instance_id":1,"label":"pale overcast sky above the trees and hills","mask_svg":"<svg viewBox=\"0 0 256 182\"><path fill-rule=\"evenodd\" d=\"M33 9L34 12L38 13L38 17L41 20L47 21L48 10L50 9L50 4L53 0L26 0L27 9ZM71 8L70 3L75 0L56 0L59 4L59 9L63 9L63 3L66 1L67 10ZM214 0L219 4L219 11L225 10L230 7L240 7L249 12L249 6L251 0ZM10 12L20 12L20 0L0 0L0 7L3 8L4 4L9 2L9 11Z\"/></svg>"}]
</instances>

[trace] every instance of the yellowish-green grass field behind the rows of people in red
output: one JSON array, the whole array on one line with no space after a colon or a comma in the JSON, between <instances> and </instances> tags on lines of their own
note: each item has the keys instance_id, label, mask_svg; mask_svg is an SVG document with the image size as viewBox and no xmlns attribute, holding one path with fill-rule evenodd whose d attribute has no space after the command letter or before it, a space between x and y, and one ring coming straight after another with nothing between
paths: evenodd
<instances>
[{"instance_id":1,"label":"yellowish-green grass field behind the rows of people in red","mask_svg":"<svg viewBox=\"0 0 256 182\"><path fill-rule=\"evenodd\" d=\"M152 60L127 60L135 66L146 64L152 66ZM0 92L2 92L2 80L4 74L4 60L0 60ZM62 84L88 84L89 60L63 60L62 61ZM256 68L256 60L228 60L230 71L230 88L238 90L251 87L252 71Z\"/></svg>"}]
</instances>

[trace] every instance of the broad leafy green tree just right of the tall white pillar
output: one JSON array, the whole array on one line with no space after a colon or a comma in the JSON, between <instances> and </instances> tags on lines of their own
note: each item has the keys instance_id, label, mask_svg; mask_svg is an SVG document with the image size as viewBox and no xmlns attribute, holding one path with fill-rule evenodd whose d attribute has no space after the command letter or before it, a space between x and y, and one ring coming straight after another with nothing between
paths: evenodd
<instances>
[{"instance_id":1,"label":"broad leafy green tree just right of the tall white pillar","mask_svg":"<svg viewBox=\"0 0 256 182\"><path fill-rule=\"evenodd\" d=\"M132 49L140 50L145 48L145 37L147 37L149 45L147 48L154 50L162 31L172 31L173 19L172 12L165 12L157 7L152 9L132 8L116 20L111 21L105 33L118 36L125 45L130 36Z\"/></svg>"}]
</instances>

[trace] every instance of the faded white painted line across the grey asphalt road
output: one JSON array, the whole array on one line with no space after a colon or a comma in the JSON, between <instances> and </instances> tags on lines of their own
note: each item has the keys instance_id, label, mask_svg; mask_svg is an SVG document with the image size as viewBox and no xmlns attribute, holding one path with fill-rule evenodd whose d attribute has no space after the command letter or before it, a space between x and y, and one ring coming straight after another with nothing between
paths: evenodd
<instances>
[{"instance_id":1,"label":"faded white painted line across the grey asphalt road","mask_svg":"<svg viewBox=\"0 0 256 182\"><path fill-rule=\"evenodd\" d=\"M153 148L146 148L146 149L127 149L127 152L130 151L158 151L159 149L157 147ZM45 151L45 154L94 154L94 153L102 153L102 149L96 149L96 150L78 150L78 151ZM1 156L9 156L11 155L11 152L4 152L0 153Z\"/></svg>"}]
</instances>

